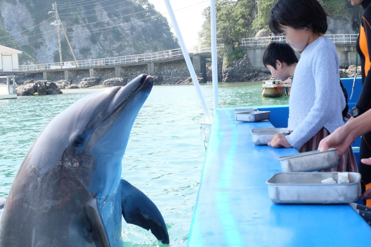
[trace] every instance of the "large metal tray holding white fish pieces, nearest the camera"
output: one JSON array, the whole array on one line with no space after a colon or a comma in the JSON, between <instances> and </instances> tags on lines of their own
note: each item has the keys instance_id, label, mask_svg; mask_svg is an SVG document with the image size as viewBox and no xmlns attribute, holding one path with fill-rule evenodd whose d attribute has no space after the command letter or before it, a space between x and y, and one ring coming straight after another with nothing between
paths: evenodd
<instances>
[{"instance_id":1,"label":"large metal tray holding white fish pieces, nearest the camera","mask_svg":"<svg viewBox=\"0 0 371 247\"><path fill-rule=\"evenodd\" d=\"M361 193L361 174L349 172L348 184L322 184L326 178L338 180L338 172L278 173L267 181L274 203L351 203Z\"/></svg>"}]
</instances>

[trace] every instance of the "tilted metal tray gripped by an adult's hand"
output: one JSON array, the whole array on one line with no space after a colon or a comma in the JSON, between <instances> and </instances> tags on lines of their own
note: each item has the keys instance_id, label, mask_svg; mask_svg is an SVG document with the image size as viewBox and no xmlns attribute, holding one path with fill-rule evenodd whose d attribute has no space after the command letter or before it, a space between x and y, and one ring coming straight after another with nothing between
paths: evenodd
<instances>
[{"instance_id":1,"label":"tilted metal tray gripped by an adult's hand","mask_svg":"<svg viewBox=\"0 0 371 247\"><path fill-rule=\"evenodd\" d=\"M279 157L283 172L318 171L338 166L336 148Z\"/></svg>"}]
</instances>

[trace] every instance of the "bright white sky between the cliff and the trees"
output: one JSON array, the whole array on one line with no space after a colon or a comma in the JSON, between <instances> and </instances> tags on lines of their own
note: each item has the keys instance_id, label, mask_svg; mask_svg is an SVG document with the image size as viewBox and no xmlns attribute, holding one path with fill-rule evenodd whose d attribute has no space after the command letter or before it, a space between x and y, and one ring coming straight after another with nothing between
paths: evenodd
<instances>
[{"instance_id":1,"label":"bright white sky between the cliff and the trees","mask_svg":"<svg viewBox=\"0 0 371 247\"><path fill-rule=\"evenodd\" d=\"M155 6L155 9L165 16L171 25L171 20L167 14L164 0L148 0ZM185 46L196 46L198 44L198 32L204 22L202 11L210 5L210 0L170 0L173 7L175 18L182 33ZM173 26L173 25L171 25ZM175 31L173 31L176 37Z\"/></svg>"}]
</instances>

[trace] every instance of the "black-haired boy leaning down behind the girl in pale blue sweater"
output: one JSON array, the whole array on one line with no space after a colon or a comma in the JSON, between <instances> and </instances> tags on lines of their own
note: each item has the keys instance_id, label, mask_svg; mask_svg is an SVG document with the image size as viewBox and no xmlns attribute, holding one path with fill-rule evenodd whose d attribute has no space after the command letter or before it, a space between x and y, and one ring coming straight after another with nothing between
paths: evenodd
<instances>
[{"instance_id":1,"label":"black-haired boy leaning down behind the girl in pale blue sweater","mask_svg":"<svg viewBox=\"0 0 371 247\"><path fill-rule=\"evenodd\" d=\"M289 77L291 77L292 80L296 64L298 64L298 58L289 44L272 42L264 51L263 64L267 67L272 76L279 78L281 81L287 80ZM345 117L350 117L350 114L348 114L348 93L341 81L340 86L345 97L345 108L342 111L344 119Z\"/></svg>"}]
</instances>

